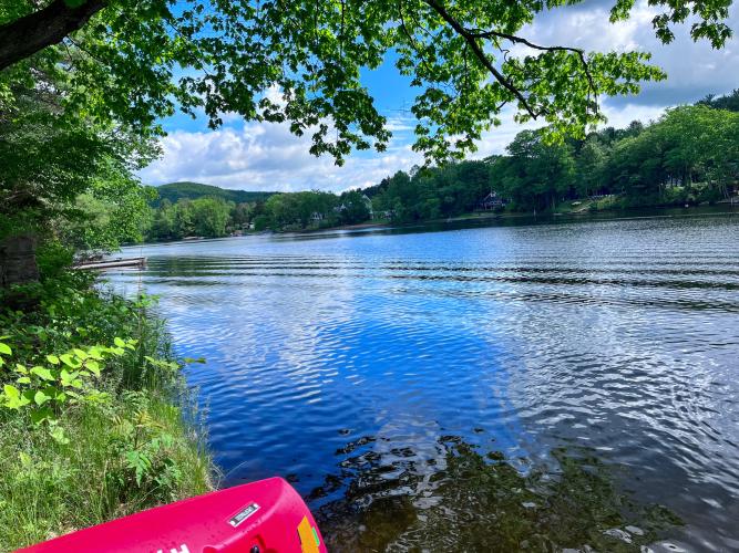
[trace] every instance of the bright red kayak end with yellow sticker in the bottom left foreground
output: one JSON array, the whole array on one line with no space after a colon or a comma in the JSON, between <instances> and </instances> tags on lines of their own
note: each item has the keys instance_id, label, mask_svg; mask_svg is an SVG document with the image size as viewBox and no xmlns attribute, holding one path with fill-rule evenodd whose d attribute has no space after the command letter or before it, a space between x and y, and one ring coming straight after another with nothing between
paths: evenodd
<instances>
[{"instance_id":1,"label":"bright red kayak end with yellow sticker in the bottom left foreground","mask_svg":"<svg viewBox=\"0 0 739 553\"><path fill-rule=\"evenodd\" d=\"M237 486L80 530L23 552L325 553L316 521L281 478Z\"/></svg>"}]
</instances>

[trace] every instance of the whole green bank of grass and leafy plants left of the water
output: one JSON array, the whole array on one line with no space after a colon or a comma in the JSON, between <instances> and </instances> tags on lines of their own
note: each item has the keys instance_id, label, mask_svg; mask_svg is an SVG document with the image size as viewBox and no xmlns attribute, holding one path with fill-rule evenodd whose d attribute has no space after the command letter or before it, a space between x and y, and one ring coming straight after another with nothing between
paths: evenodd
<instances>
[{"instance_id":1,"label":"whole green bank of grass and leafy plants left of the water","mask_svg":"<svg viewBox=\"0 0 739 553\"><path fill-rule=\"evenodd\" d=\"M150 301L59 272L0 298L0 551L212 488Z\"/></svg>"}]
</instances>

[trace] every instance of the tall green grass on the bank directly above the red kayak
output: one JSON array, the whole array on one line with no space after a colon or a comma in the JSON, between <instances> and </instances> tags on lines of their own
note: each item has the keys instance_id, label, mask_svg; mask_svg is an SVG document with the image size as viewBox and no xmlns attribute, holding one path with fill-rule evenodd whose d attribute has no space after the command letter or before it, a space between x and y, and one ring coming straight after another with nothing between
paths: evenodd
<instances>
[{"instance_id":1,"label":"tall green grass on the bank directly above the red kayak","mask_svg":"<svg viewBox=\"0 0 739 553\"><path fill-rule=\"evenodd\" d=\"M179 408L145 390L151 421L173 437L163 453L181 472L166 489L156 482L136 486L121 444L115 415L134 408L116 399L109 410L86 408L65 417L69 445L51 440L42 429L4 420L0 429L0 550L11 551L81 528L137 512L170 500L212 489L209 462L183 425ZM113 419L110 415L114 415ZM151 484L154 486L151 486Z\"/></svg>"}]
</instances>

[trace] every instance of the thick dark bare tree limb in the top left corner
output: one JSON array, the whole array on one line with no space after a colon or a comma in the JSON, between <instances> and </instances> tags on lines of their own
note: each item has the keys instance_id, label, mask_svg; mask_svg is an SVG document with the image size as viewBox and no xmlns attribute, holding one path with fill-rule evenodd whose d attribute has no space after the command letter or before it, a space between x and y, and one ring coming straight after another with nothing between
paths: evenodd
<instances>
[{"instance_id":1,"label":"thick dark bare tree limb in the top left corner","mask_svg":"<svg viewBox=\"0 0 739 553\"><path fill-rule=\"evenodd\" d=\"M70 8L64 0L53 0L42 10L0 25L0 71L60 43L106 6L107 0L86 0Z\"/></svg>"}]
</instances>

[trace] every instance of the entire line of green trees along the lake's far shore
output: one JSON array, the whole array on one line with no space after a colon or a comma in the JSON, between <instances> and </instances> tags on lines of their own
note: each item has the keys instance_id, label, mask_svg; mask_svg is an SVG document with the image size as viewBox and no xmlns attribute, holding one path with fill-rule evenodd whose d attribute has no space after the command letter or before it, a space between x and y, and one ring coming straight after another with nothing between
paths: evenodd
<instances>
[{"instance_id":1,"label":"entire line of green trees along the lake's far shore","mask_svg":"<svg viewBox=\"0 0 739 553\"><path fill-rule=\"evenodd\" d=\"M561 143L545 136L523 131L505 155L414 167L340 195L311 190L246 202L223 195L175 204L163 199L147 238L450 218L479 209L487 195L499 198L499 211L547 212L573 204L591 210L696 205L727 199L739 185L739 90L668 109L647 125L635 121Z\"/></svg>"}]
</instances>

